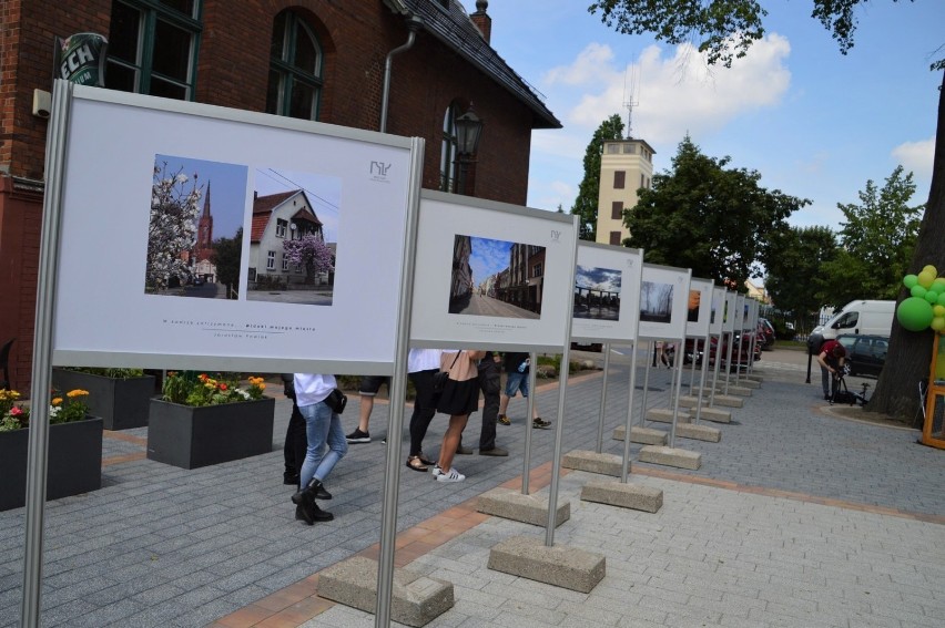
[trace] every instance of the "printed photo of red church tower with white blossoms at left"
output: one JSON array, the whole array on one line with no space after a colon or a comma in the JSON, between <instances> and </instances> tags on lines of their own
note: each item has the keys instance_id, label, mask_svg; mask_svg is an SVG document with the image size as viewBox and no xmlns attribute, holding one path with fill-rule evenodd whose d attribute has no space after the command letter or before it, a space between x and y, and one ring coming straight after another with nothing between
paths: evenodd
<instances>
[{"instance_id":1,"label":"printed photo of red church tower with white blossoms at left","mask_svg":"<svg viewBox=\"0 0 945 628\"><path fill-rule=\"evenodd\" d=\"M236 298L247 176L243 165L154 156L145 294Z\"/></svg>"}]
</instances>

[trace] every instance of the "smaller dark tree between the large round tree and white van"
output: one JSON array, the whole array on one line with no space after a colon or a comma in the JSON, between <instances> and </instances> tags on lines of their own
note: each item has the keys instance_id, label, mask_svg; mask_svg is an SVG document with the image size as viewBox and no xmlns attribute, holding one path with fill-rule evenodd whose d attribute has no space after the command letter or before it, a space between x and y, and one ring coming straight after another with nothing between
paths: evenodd
<instances>
[{"instance_id":1,"label":"smaller dark tree between the large round tree and white van","mask_svg":"<svg viewBox=\"0 0 945 628\"><path fill-rule=\"evenodd\" d=\"M806 320L824 305L824 265L837 254L830 227L788 227L772 234L764 254L764 287L782 311L794 315L795 329L810 331Z\"/></svg>"}]
</instances>

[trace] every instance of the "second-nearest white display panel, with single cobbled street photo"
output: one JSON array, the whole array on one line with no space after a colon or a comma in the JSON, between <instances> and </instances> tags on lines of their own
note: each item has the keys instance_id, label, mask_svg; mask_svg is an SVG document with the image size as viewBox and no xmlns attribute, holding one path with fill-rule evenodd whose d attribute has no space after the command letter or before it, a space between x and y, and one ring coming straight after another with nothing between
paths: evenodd
<instances>
[{"instance_id":1,"label":"second-nearest white display panel, with single cobbled street photo","mask_svg":"<svg viewBox=\"0 0 945 628\"><path fill-rule=\"evenodd\" d=\"M575 216L423 191L411 344L560 350L577 237Z\"/></svg>"}]
</instances>

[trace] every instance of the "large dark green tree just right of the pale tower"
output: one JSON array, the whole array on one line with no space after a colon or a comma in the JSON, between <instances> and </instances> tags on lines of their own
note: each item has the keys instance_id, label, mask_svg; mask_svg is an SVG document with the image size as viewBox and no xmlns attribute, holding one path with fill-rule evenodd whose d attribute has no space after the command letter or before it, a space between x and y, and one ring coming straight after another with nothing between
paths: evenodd
<instances>
[{"instance_id":1,"label":"large dark green tree just right of the pale tower","mask_svg":"<svg viewBox=\"0 0 945 628\"><path fill-rule=\"evenodd\" d=\"M647 261L692 268L693 277L744 285L756 275L769 235L807 200L769 192L761 175L725 166L700 153L687 136L672 158L672 172L653 175L637 205L623 212L627 244L644 250Z\"/></svg>"}]
</instances>

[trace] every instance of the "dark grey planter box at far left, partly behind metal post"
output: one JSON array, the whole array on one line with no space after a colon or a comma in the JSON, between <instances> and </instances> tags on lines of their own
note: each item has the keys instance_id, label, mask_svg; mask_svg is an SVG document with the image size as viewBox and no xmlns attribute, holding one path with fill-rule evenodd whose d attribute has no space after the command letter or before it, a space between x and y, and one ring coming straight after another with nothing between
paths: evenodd
<instances>
[{"instance_id":1,"label":"dark grey planter box at far left, partly behind metal post","mask_svg":"<svg viewBox=\"0 0 945 628\"><path fill-rule=\"evenodd\" d=\"M29 430L0 432L0 511L19 508L27 500ZM59 500L102 487L102 419L49 426L47 500Z\"/></svg>"}]
</instances>

